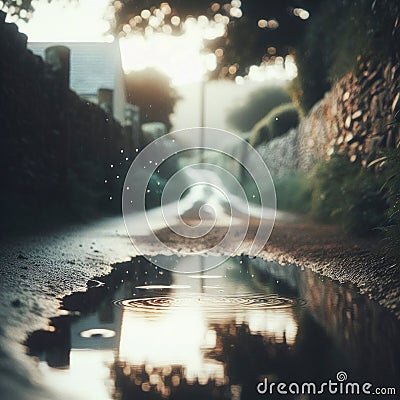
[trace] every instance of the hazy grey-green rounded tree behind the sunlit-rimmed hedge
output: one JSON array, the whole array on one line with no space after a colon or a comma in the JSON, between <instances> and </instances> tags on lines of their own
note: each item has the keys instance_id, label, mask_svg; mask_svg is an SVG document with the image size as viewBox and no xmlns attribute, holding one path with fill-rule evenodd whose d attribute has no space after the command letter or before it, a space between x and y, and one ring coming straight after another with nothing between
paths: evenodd
<instances>
[{"instance_id":1,"label":"hazy grey-green rounded tree behind the sunlit-rimmed hedge","mask_svg":"<svg viewBox=\"0 0 400 400\"><path fill-rule=\"evenodd\" d=\"M281 86L264 86L249 94L244 105L235 105L227 114L228 124L240 132L250 131L273 108L290 102Z\"/></svg>"}]
</instances>

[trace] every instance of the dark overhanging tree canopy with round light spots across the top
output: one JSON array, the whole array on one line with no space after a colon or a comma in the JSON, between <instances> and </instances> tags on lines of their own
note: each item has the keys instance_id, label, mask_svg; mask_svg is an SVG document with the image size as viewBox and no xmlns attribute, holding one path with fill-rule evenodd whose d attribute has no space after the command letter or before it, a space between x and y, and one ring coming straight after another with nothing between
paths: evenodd
<instances>
[{"instance_id":1,"label":"dark overhanging tree canopy with round light spots across the top","mask_svg":"<svg viewBox=\"0 0 400 400\"><path fill-rule=\"evenodd\" d=\"M29 19L31 2L4 0L3 9ZM304 111L355 65L357 57L400 54L398 0L110 0L110 4L115 9L116 36L146 29L179 35L190 17L222 23L223 33L205 40L205 51L217 56L211 79L233 79L262 60L273 63L277 56L293 54L299 78L292 94Z\"/></svg>"}]
</instances>

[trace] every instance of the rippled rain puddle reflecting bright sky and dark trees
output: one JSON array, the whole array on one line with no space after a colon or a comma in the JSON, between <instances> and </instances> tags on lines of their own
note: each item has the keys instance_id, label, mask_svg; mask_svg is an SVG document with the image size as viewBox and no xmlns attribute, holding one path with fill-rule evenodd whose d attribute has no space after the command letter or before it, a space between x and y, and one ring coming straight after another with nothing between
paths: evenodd
<instances>
[{"instance_id":1,"label":"rippled rain puddle reflecting bright sky and dark trees","mask_svg":"<svg viewBox=\"0 0 400 400\"><path fill-rule=\"evenodd\" d=\"M399 322L308 270L239 257L187 275L136 258L93 282L27 341L57 399L259 399L266 377L318 383L338 371L400 381Z\"/></svg>"}]
</instances>

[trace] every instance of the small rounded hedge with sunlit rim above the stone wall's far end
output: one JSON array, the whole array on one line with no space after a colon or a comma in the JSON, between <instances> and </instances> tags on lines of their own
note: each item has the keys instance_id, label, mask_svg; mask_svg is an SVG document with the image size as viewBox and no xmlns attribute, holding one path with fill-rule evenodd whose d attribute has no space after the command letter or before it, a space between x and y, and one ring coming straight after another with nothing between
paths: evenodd
<instances>
[{"instance_id":1,"label":"small rounded hedge with sunlit rim above the stone wall's far end","mask_svg":"<svg viewBox=\"0 0 400 400\"><path fill-rule=\"evenodd\" d=\"M299 124L299 112L293 103L273 108L252 129L250 144L258 146L276 137L282 136Z\"/></svg>"}]
</instances>

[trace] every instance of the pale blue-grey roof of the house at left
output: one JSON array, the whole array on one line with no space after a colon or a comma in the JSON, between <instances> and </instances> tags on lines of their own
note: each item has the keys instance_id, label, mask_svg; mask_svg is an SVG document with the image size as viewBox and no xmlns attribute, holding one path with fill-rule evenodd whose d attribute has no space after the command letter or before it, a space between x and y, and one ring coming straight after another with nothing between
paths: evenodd
<instances>
[{"instance_id":1,"label":"pale blue-grey roof of the house at left","mask_svg":"<svg viewBox=\"0 0 400 400\"><path fill-rule=\"evenodd\" d=\"M114 43L44 43L28 44L34 54L45 58L45 49L62 45L71 50L70 86L81 96L97 95L100 88L115 89L121 76L122 62L118 42Z\"/></svg>"}]
</instances>

